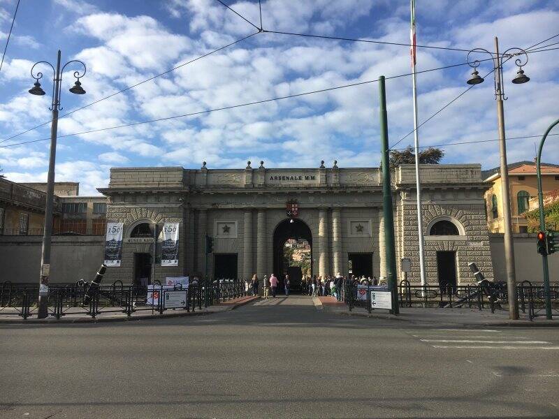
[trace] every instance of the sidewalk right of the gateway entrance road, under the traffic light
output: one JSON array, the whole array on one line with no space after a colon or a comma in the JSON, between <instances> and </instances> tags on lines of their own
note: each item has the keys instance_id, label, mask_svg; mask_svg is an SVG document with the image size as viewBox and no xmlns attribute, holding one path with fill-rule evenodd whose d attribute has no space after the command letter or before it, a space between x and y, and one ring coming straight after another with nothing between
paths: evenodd
<instances>
[{"instance_id":1,"label":"sidewalk right of the gateway entrance road, under the traffic light","mask_svg":"<svg viewBox=\"0 0 559 419\"><path fill-rule=\"evenodd\" d=\"M553 320L546 320L545 316L538 316L533 321L528 320L528 314L520 313L520 320L509 320L509 312L497 310L491 314L489 309L442 309L423 307L400 307L400 314L389 314L387 310L368 311L362 307L354 307L352 311L346 304L340 305L333 297L319 297L313 299L317 309L331 311L342 316L363 316L381 320L409 322L413 325L442 325L442 326L491 326L491 327L559 327L559 314L553 312ZM542 314L545 314L542 310Z\"/></svg>"}]
</instances>

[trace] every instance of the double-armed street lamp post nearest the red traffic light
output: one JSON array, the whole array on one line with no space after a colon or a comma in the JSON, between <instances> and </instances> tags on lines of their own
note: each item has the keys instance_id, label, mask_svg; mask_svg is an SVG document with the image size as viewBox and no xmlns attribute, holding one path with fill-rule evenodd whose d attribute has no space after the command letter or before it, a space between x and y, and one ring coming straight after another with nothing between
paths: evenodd
<instances>
[{"instance_id":1,"label":"double-armed street lamp post nearest the red traffic light","mask_svg":"<svg viewBox=\"0 0 559 419\"><path fill-rule=\"evenodd\" d=\"M504 260L505 266L507 267L507 291L509 295L509 318L511 320L518 320L518 301L516 298L516 271L514 267L514 244L512 240L512 220L511 220L511 198L509 191L509 171L507 168L507 144L504 135L504 109L503 101L507 100L504 96L504 85L502 84L502 65L504 62L508 61L513 57L519 57L515 59L516 66L518 66L518 71L516 72L516 77L512 82L514 84L523 84L528 82L530 78L524 74L522 66L528 63L528 54L525 50L521 48L513 47L509 50L499 54L499 41L495 37L495 52L489 52L483 48L476 48L471 50L467 54L467 64L474 68L472 72L472 78L467 80L467 84L479 84L484 82L484 78L481 78L477 72L477 67L480 61L473 60L470 61L470 54L475 52L484 52L490 54L493 57L493 70L495 76L495 100L497 101L497 118L499 126L499 149L500 149L500 175L501 175L501 202L502 202L502 216L504 221ZM503 61L507 59L506 61Z\"/></svg>"}]
</instances>

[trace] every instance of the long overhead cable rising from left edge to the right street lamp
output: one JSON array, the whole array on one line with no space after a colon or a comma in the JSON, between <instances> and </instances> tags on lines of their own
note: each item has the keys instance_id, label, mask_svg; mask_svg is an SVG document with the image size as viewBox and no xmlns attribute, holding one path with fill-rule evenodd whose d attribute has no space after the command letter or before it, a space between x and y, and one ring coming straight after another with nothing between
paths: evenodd
<instances>
[{"instance_id":1,"label":"long overhead cable rising from left edge to the right street lamp","mask_svg":"<svg viewBox=\"0 0 559 419\"><path fill-rule=\"evenodd\" d=\"M492 60L491 58L488 59L481 59L479 60L481 61L488 61L488 60ZM460 63L460 64L451 64L449 66L442 66L442 67L437 67L437 68L429 68L428 70L421 70L421 71L416 71L416 74L421 74L421 73L428 73L430 71L440 71L440 70L444 70L446 68L453 68L453 67L458 67L458 66L465 66L467 65L467 63ZM414 73L405 73L405 74L400 74L400 75L391 75L385 78L385 80L393 80L396 78L402 78L402 77L407 77L410 75L413 75ZM182 115L173 115L170 117L164 117L164 118L158 118L158 119L149 119L147 121L140 121L140 122L132 122L130 124L122 124L122 125L117 125L117 126L108 126L106 128L98 128L95 130L89 130L89 131L82 131L79 133L71 133L71 134L65 134L65 135L58 135L58 138L64 138L64 137L71 137L74 135L82 135L82 134L89 134L89 133L96 133L96 132L101 132L101 131L109 131L112 129L117 129L117 128L126 128L128 126L136 126L136 125L143 125L143 124L151 124L153 122L162 122L162 121L167 121L170 119L177 119L177 118L184 118L184 117L192 117L192 116L196 116L196 115L204 115L204 114L208 114L210 112L217 112L219 110L228 110L228 109L235 109L235 108L242 108L245 106L249 106L249 105L258 105L261 103L268 103L268 102L273 102L273 101L281 101L284 99L288 99L288 98L296 98L296 97L300 97L300 96L307 96L310 94L317 94L317 93L324 93L325 91L333 91L333 90L338 90L338 89L345 89L347 87L355 87L355 86L361 86L363 84L370 84L370 83L375 83L378 82L379 79L374 79L374 80L365 80L363 82L355 82L355 83L349 83L349 84L342 84L340 86L335 86L335 87L327 87L326 89L318 89L318 90L313 90L313 91L305 91L303 93L298 93L298 94L290 94L290 95L286 95L286 96L278 96L275 98L269 98L269 99L263 99L261 101L253 101L253 102L247 102L247 103L239 103L237 105L230 105L230 106L224 106L222 108L214 108L214 109L208 109L208 110L201 110L198 112L191 112L191 113L187 113L187 114L182 114ZM8 145L1 145L0 148L6 148L6 147L13 147L15 145L24 145L24 144L31 144L33 142L40 142L40 141L46 141L46 140L50 140L50 137L48 138L42 138L39 140L30 140L30 141L23 141L23 142L15 142L12 144L8 144Z\"/></svg>"}]
</instances>

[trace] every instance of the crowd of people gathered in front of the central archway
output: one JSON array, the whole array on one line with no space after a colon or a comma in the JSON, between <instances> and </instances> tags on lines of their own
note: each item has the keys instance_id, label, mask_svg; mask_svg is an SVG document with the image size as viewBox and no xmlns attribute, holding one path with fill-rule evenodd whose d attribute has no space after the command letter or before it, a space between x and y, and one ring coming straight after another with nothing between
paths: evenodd
<instances>
[{"instance_id":1,"label":"crowd of people gathered in front of the central archway","mask_svg":"<svg viewBox=\"0 0 559 419\"><path fill-rule=\"evenodd\" d=\"M270 297L270 294L273 298L277 295L277 286L279 281L275 274L264 275L263 278L263 295L264 298L267 300ZM331 275L313 275L312 277L307 277L303 275L303 279L301 279L301 291L303 293L307 293L312 297L326 297L327 295L331 295L335 297L337 301L342 300L342 288L344 284L351 285L351 286L376 286L379 284L376 277L356 277L355 275L350 275L349 277L342 277L340 272L335 274L334 277ZM252 295L259 295L258 287L259 287L259 279L256 274L252 276L251 281L247 281L245 284L247 291L251 291ZM284 292L285 296L289 296L289 290L291 288L291 280L289 279L289 275L285 275L284 281Z\"/></svg>"}]
</instances>

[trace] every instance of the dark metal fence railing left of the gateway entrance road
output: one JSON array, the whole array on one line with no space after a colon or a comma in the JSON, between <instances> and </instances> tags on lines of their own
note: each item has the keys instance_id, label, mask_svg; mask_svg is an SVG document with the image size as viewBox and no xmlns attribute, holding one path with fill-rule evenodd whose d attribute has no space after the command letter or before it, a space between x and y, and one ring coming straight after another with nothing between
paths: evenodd
<instances>
[{"instance_id":1,"label":"dark metal fence railing left of the gateway entrance road","mask_svg":"<svg viewBox=\"0 0 559 419\"><path fill-rule=\"evenodd\" d=\"M55 318L122 313L132 316L136 311L164 314L167 310L196 311L226 300L247 295L244 281L194 281L188 287L124 285L115 281L111 285L89 288L89 284L52 284L45 297L48 314ZM0 315L11 314L28 318L36 313L39 287L37 284L0 284Z\"/></svg>"}]
</instances>

